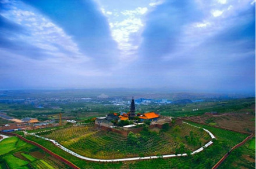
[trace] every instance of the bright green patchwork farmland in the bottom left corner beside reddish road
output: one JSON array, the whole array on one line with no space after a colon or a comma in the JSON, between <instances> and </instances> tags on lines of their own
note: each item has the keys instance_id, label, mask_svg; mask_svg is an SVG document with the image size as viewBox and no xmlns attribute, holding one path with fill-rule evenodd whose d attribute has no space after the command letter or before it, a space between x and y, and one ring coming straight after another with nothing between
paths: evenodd
<instances>
[{"instance_id":1,"label":"bright green patchwork farmland in the bottom left corner beside reddish road","mask_svg":"<svg viewBox=\"0 0 256 169\"><path fill-rule=\"evenodd\" d=\"M0 142L0 164L0 168L69 168L17 137L5 138Z\"/></svg>"}]
</instances>

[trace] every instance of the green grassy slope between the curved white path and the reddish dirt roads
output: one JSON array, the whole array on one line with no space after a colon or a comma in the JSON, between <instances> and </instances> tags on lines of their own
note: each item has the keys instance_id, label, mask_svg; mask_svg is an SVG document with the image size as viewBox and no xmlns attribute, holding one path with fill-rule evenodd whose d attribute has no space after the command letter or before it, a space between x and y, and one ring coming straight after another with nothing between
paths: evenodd
<instances>
[{"instance_id":1,"label":"green grassy slope between the curved white path and the reddish dirt roads","mask_svg":"<svg viewBox=\"0 0 256 169\"><path fill-rule=\"evenodd\" d=\"M195 125L207 128L209 131L214 133L215 137L217 138L217 140L214 141L214 144L206 148L203 152L189 157L125 161L120 163L95 163L84 161L64 152L63 150L54 146L51 142L33 136L28 136L27 138L38 142L56 154L69 159L72 163L81 168L211 168L219 159L221 159L223 155L225 155L230 147L238 144L247 137L247 135L233 131L222 130L220 128L200 124ZM230 163L227 163L227 166L230 165Z\"/></svg>"}]
</instances>

